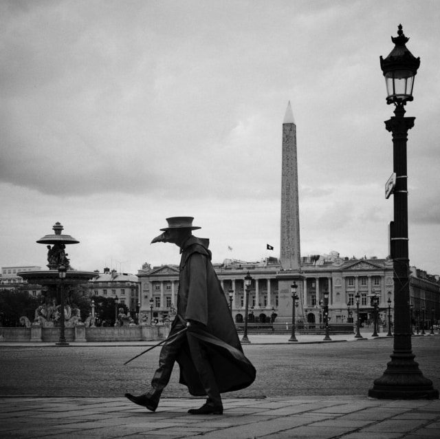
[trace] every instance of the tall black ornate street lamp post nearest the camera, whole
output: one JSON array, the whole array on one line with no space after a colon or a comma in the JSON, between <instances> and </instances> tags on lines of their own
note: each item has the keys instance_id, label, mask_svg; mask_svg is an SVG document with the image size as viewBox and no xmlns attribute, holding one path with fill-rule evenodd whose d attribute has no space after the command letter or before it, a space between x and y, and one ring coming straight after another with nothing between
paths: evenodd
<instances>
[{"instance_id":1,"label":"tall black ornate street lamp post nearest the camera, whole","mask_svg":"<svg viewBox=\"0 0 440 439\"><path fill-rule=\"evenodd\" d=\"M380 57L385 76L388 104L395 105L395 116L385 122L393 135L394 220L390 224L391 258L394 271L394 347L391 361L384 374L374 381L369 396L382 399L433 399L439 392L432 381L425 378L414 360L410 330L410 279L408 257L408 172L406 143L408 130L415 118L406 118L405 105L412 100L412 87L420 58L415 58L406 48L408 38L399 25L398 36L392 38L395 47L386 57ZM395 177L395 178L394 178Z\"/></svg>"}]
</instances>

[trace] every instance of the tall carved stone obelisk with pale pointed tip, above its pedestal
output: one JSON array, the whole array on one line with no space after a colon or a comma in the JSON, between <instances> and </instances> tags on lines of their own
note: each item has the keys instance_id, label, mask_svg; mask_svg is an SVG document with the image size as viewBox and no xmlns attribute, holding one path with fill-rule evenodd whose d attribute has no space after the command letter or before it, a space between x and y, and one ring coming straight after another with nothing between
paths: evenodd
<instances>
[{"instance_id":1,"label":"tall carved stone obelisk with pale pointed tip, above its pedestal","mask_svg":"<svg viewBox=\"0 0 440 439\"><path fill-rule=\"evenodd\" d=\"M283 120L283 156L281 178L281 266L300 269L300 215L298 206L298 163L296 125L290 101Z\"/></svg>"}]
</instances>

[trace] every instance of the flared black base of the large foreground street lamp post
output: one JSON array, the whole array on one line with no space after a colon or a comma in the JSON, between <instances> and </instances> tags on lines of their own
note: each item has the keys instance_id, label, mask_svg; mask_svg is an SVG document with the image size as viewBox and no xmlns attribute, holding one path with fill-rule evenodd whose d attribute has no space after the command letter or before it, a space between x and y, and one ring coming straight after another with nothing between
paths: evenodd
<instances>
[{"instance_id":1,"label":"flared black base of the large foreground street lamp post","mask_svg":"<svg viewBox=\"0 0 440 439\"><path fill-rule=\"evenodd\" d=\"M369 396L377 399L438 399L439 391L425 378L411 352L394 352L384 374L374 381Z\"/></svg>"}]
</instances>

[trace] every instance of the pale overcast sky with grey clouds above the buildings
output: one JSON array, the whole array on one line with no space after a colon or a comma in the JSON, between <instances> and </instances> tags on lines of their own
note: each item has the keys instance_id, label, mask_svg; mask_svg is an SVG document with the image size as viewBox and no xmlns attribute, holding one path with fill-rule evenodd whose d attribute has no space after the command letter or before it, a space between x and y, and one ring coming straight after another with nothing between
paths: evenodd
<instances>
[{"instance_id":1,"label":"pale overcast sky with grey clouds above the buildings","mask_svg":"<svg viewBox=\"0 0 440 439\"><path fill-rule=\"evenodd\" d=\"M150 245L177 215L215 262L279 257L289 101L301 255L386 257L379 57L399 23L421 58L410 264L440 274L438 0L0 0L0 266L45 267L36 240L55 222L80 241L74 268L177 264L175 246Z\"/></svg>"}]
</instances>

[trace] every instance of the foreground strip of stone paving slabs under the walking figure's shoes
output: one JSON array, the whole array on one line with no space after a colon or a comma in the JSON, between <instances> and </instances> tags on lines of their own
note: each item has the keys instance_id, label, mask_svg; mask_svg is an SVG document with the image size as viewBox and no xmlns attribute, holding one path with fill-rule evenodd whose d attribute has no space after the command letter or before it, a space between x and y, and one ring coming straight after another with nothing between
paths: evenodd
<instances>
[{"instance_id":1,"label":"foreground strip of stone paving slabs under the walking figure's shoes","mask_svg":"<svg viewBox=\"0 0 440 439\"><path fill-rule=\"evenodd\" d=\"M0 398L0 437L428 439L440 433L439 400L227 398L223 416L187 414L199 404L164 398L151 413L125 398Z\"/></svg>"}]
</instances>

